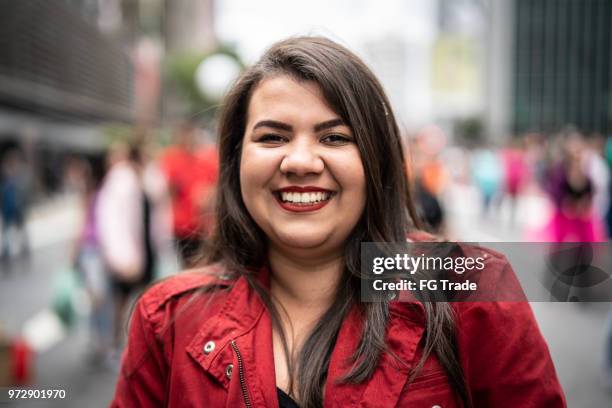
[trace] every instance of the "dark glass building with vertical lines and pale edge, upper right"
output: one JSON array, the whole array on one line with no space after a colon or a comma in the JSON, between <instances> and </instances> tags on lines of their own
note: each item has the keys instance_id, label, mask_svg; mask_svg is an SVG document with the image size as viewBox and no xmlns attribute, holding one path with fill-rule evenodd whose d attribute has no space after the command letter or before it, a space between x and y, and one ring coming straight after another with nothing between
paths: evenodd
<instances>
[{"instance_id":1,"label":"dark glass building with vertical lines and pale edge, upper right","mask_svg":"<svg viewBox=\"0 0 612 408\"><path fill-rule=\"evenodd\" d=\"M612 132L609 0L489 0L490 133ZM511 50L511 51L507 51Z\"/></svg>"}]
</instances>

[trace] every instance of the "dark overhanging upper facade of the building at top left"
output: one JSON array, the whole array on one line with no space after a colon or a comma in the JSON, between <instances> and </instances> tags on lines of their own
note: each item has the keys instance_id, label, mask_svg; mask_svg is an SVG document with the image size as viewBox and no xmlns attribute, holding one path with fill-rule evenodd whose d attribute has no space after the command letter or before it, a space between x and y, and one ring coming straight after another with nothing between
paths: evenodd
<instances>
[{"instance_id":1,"label":"dark overhanging upper facade of the building at top left","mask_svg":"<svg viewBox=\"0 0 612 408\"><path fill-rule=\"evenodd\" d=\"M22 0L0 13L0 103L83 120L129 120L132 71L100 33L96 1Z\"/></svg>"}]
</instances>

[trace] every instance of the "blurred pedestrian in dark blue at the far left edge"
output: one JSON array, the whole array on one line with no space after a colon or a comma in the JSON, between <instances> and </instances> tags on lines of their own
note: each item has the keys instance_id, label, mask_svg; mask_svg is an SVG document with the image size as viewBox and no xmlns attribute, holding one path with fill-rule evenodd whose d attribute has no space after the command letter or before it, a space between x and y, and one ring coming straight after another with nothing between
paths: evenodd
<instances>
[{"instance_id":1,"label":"blurred pedestrian in dark blue at the far left edge","mask_svg":"<svg viewBox=\"0 0 612 408\"><path fill-rule=\"evenodd\" d=\"M26 217L30 204L30 177L22 152L7 151L0 163L0 213L2 216L3 263L8 263L13 250L29 256L30 241ZM12 248L17 245L17 249Z\"/></svg>"}]
</instances>

